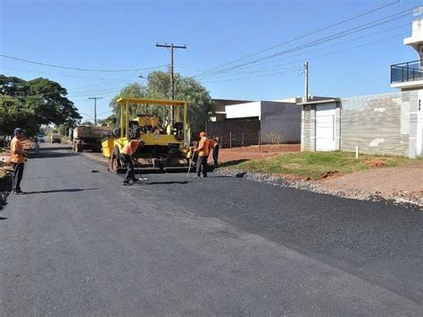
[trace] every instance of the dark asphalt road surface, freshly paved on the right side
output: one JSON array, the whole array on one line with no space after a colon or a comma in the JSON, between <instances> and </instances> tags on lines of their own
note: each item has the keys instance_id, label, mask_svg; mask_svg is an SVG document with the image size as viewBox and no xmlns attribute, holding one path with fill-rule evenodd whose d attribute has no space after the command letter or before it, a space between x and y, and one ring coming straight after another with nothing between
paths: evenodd
<instances>
[{"instance_id":1,"label":"dark asphalt road surface, freshly paved on the right side","mask_svg":"<svg viewBox=\"0 0 423 317\"><path fill-rule=\"evenodd\" d=\"M29 160L0 212L0 315L423 313L421 212L146 176L122 187L63 149Z\"/></svg>"}]
</instances>

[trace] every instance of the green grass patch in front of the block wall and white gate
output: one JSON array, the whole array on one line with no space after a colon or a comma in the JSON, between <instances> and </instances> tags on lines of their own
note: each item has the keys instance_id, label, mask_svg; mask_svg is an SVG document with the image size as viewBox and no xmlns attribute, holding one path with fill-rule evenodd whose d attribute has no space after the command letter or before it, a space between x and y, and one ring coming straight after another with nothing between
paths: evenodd
<instances>
[{"instance_id":1,"label":"green grass patch in front of the block wall and white gate","mask_svg":"<svg viewBox=\"0 0 423 317\"><path fill-rule=\"evenodd\" d=\"M382 161L386 167L416 162L416 160L406 157L364 154L356 160L354 153L336 151L281 154L261 160L239 163L233 165L233 167L269 174L292 174L304 179L320 179L322 175L333 171L346 174L352 171L369 170L370 167L366 162L371 160Z\"/></svg>"}]
</instances>

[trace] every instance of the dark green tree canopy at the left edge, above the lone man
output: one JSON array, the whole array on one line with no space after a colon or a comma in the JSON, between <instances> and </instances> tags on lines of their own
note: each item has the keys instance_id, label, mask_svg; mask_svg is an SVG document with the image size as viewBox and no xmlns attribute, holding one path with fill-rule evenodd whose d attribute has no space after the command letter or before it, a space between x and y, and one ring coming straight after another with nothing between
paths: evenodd
<instances>
[{"instance_id":1,"label":"dark green tree canopy at the left edge, above the lone man","mask_svg":"<svg viewBox=\"0 0 423 317\"><path fill-rule=\"evenodd\" d=\"M25 129L35 135L41 125L73 126L80 119L65 88L50 79L23 80L0 75L0 134Z\"/></svg>"}]
</instances>

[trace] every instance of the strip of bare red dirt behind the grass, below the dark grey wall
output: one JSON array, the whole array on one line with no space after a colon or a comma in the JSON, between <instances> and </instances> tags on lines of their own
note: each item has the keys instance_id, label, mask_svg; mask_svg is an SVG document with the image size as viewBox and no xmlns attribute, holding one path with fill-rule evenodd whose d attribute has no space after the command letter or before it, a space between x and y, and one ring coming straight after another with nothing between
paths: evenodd
<instances>
[{"instance_id":1,"label":"strip of bare red dirt behind the grass, below the dark grey wall","mask_svg":"<svg viewBox=\"0 0 423 317\"><path fill-rule=\"evenodd\" d=\"M282 153L300 152L299 144L281 144L278 146L244 146L221 148L219 150L219 162L229 162L238 160L257 160L265 157L275 156ZM211 163L212 157L209 156Z\"/></svg>"}]
</instances>

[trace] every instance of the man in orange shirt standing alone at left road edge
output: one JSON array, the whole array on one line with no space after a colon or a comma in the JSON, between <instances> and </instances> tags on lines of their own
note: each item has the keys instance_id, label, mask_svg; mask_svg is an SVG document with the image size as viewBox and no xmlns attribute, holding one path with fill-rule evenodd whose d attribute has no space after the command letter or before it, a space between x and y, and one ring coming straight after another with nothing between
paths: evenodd
<instances>
[{"instance_id":1,"label":"man in orange shirt standing alone at left road edge","mask_svg":"<svg viewBox=\"0 0 423 317\"><path fill-rule=\"evenodd\" d=\"M27 154L23 150L21 141L23 140L23 130L16 128L13 131L14 138L11 141L11 162L13 166L13 194L24 194L21 191L21 180L23 176L23 165Z\"/></svg>"}]
</instances>

